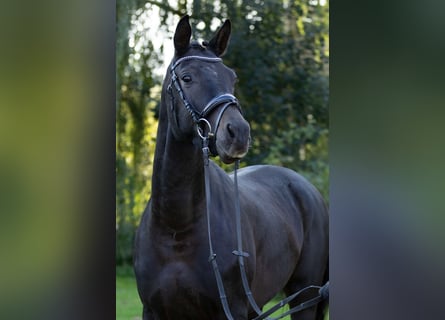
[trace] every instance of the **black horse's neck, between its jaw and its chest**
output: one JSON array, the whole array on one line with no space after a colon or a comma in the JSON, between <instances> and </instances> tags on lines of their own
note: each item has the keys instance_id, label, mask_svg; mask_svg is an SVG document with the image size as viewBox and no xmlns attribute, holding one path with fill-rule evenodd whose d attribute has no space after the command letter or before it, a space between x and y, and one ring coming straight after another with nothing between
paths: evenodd
<instances>
[{"instance_id":1,"label":"black horse's neck, between its jaw and its chest","mask_svg":"<svg viewBox=\"0 0 445 320\"><path fill-rule=\"evenodd\" d=\"M184 230L201 215L204 197L202 151L191 141L175 139L167 119L160 119L152 179L154 215L161 224Z\"/></svg>"}]
</instances>

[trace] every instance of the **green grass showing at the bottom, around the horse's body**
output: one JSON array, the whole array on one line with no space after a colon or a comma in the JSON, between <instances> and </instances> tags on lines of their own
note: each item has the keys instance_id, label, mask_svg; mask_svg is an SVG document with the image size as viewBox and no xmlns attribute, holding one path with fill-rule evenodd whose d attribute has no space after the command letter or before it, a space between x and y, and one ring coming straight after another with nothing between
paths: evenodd
<instances>
[{"instance_id":1,"label":"green grass showing at the bottom, around the horse's body","mask_svg":"<svg viewBox=\"0 0 445 320\"><path fill-rule=\"evenodd\" d=\"M264 310L268 310L279 301L279 297L270 301ZM278 316L289 310L285 305L277 310L272 316ZM116 320L141 320L142 303L136 289L136 280L130 266L116 268ZM290 320L290 316L283 318ZM325 316L329 320L329 315Z\"/></svg>"}]
</instances>

